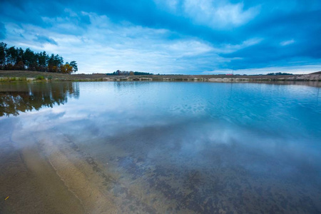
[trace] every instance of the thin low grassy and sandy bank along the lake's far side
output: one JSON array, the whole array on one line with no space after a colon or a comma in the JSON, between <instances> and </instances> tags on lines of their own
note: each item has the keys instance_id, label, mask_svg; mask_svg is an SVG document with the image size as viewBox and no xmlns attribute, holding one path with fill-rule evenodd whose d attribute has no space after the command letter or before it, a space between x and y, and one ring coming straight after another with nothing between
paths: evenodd
<instances>
[{"instance_id":1,"label":"thin low grassy and sandy bank along the lake's far side","mask_svg":"<svg viewBox=\"0 0 321 214\"><path fill-rule=\"evenodd\" d=\"M192 82L253 82L253 81L321 81L321 74L294 75L140 75L107 76L105 73L64 74L39 71L0 71L0 82L18 81L192 81Z\"/></svg>"}]
</instances>

